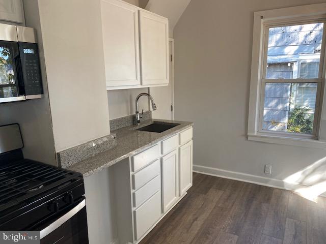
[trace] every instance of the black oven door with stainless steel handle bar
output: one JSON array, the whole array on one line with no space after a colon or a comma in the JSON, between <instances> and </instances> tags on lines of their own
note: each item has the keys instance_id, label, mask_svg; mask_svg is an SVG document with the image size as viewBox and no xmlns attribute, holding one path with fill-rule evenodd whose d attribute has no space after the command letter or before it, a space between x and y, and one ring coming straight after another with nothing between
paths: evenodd
<instances>
[{"instance_id":1,"label":"black oven door with stainless steel handle bar","mask_svg":"<svg viewBox=\"0 0 326 244\"><path fill-rule=\"evenodd\" d=\"M41 244L88 244L86 200L40 230Z\"/></svg>"}]
</instances>

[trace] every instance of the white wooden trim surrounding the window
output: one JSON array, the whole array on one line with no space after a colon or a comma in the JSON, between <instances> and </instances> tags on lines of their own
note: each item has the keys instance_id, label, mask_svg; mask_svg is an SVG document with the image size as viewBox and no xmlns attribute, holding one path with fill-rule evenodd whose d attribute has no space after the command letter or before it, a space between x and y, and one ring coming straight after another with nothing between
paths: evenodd
<instances>
[{"instance_id":1,"label":"white wooden trim surrounding the window","mask_svg":"<svg viewBox=\"0 0 326 244\"><path fill-rule=\"evenodd\" d=\"M251 65L251 81L250 81L250 99L249 99L249 116L248 116L248 140L286 144L294 146L304 146L313 148L326 149L326 107L323 96L325 93L325 60L324 56L320 57L320 61L323 60L323 73L321 78L316 79L321 82L320 96L317 94L319 108L316 108L318 112L316 123L314 123L314 135L298 135L295 133L269 133L260 131L260 113L261 113L261 85L264 72L264 59L262 58L265 51L264 43L266 40L265 26L273 24L282 24L285 20L291 19L293 23L319 20L323 21L326 18L326 4L313 4L291 8L283 8L276 10L267 10L254 13L254 33L253 33L253 49L252 49L252 65ZM290 23L290 22L289 22ZM324 26L325 30L326 26ZM325 32L324 32L325 33ZM325 35L323 36L323 45L325 45ZM286 80L283 80L285 82ZM291 82L293 82L292 80ZM316 104L316 106L318 106ZM318 126L315 126L318 125Z\"/></svg>"}]
</instances>

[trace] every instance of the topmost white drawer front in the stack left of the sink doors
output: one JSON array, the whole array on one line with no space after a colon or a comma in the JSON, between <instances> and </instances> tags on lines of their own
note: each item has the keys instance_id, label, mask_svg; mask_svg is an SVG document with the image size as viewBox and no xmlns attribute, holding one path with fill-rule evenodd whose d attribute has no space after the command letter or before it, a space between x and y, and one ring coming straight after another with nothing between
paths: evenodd
<instances>
[{"instance_id":1,"label":"topmost white drawer front in the stack left of the sink doors","mask_svg":"<svg viewBox=\"0 0 326 244\"><path fill-rule=\"evenodd\" d=\"M153 160L157 159L159 156L159 145L152 146L151 148L142 151L142 153L139 153L138 155L132 157L132 171L135 172L139 170L140 168L146 166Z\"/></svg>"}]
</instances>

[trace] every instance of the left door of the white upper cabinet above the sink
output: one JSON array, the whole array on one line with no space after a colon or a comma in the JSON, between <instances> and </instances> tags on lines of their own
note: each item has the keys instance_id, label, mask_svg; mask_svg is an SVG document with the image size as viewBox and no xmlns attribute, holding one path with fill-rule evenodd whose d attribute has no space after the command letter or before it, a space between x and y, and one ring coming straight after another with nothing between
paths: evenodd
<instances>
[{"instance_id":1,"label":"left door of the white upper cabinet above the sink","mask_svg":"<svg viewBox=\"0 0 326 244\"><path fill-rule=\"evenodd\" d=\"M106 86L140 85L138 8L102 0L101 14Z\"/></svg>"}]
</instances>

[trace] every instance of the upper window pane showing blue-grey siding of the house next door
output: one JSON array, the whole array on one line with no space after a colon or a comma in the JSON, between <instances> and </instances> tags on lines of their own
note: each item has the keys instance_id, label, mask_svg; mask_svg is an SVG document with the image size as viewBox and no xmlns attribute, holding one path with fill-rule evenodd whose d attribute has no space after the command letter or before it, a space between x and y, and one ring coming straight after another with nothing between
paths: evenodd
<instances>
[{"instance_id":1,"label":"upper window pane showing blue-grey siding of the house next door","mask_svg":"<svg viewBox=\"0 0 326 244\"><path fill-rule=\"evenodd\" d=\"M269 28L265 78L318 78L322 32L323 23Z\"/></svg>"}]
</instances>

